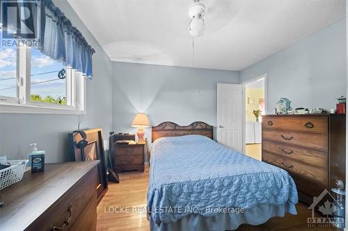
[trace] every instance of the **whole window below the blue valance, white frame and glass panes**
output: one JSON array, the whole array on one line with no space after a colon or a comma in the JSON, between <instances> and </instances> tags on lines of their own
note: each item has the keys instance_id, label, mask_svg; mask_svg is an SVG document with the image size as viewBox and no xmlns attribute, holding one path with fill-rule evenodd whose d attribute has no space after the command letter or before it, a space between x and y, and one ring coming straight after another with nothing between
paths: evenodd
<instances>
[{"instance_id":1,"label":"whole window below the blue valance, white frame and glass panes","mask_svg":"<svg viewBox=\"0 0 348 231\"><path fill-rule=\"evenodd\" d=\"M0 49L0 112L81 114L86 78L23 44Z\"/></svg>"}]
</instances>

